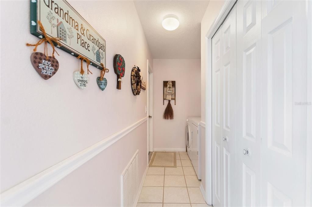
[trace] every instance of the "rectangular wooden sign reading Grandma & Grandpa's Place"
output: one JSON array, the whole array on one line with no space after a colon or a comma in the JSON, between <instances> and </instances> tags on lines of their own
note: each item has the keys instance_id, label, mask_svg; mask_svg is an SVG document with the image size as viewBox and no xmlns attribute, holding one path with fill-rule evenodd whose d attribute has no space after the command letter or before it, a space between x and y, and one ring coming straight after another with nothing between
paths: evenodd
<instances>
[{"instance_id":1,"label":"rectangular wooden sign reading Grandma & Grandpa's Place","mask_svg":"<svg viewBox=\"0 0 312 207\"><path fill-rule=\"evenodd\" d=\"M78 57L90 60L90 65L102 69L106 65L106 41L65 0L31 0L30 33L42 38L37 21L41 21L50 37L61 38L60 49Z\"/></svg>"}]
</instances>

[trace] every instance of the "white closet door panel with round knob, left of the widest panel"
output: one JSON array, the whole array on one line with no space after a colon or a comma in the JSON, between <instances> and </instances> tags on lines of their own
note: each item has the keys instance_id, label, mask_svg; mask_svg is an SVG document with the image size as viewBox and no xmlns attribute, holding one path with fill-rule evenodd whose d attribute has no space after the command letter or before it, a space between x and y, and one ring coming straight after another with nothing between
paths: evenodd
<instances>
[{"instance_id":1,"label":"white closet door panel with round knob, left of the widest panel","mask_svg":"<svg viewBox=\"0 0 312 207\"><path fill-rule=\"evenodd\" d=\"M236 7L237 206L260 206L261 1L238 1Z\"/></svg>"}]
</instances>

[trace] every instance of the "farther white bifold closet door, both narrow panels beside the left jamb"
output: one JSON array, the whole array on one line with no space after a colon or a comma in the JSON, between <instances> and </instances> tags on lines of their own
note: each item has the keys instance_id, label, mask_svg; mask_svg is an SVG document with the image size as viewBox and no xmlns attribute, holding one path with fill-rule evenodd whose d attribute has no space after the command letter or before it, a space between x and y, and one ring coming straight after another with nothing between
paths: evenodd
<instances>
[{"instance_id":1,"label":"farther white bifold closet door, both narrow panels beside the left jamb","mask_svg":"<svg viewBox=\"0 0 312 207\"><path fill-rule=\"evenodd\" d=\"M212 38L214 206L235 205L236 6Z\"/></svg>"}]
</instances>

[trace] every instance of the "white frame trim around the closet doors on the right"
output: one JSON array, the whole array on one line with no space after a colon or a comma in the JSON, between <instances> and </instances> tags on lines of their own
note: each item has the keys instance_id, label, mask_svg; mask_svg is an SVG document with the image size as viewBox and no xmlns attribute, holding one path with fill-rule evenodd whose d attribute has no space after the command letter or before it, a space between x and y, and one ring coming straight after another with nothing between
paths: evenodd
<instances>
[{"instance_id":1,"label":"white frame trim around the closet doors on the right","mask_svg":"<svg viewBox=\"0 0 312 207\"><path fill-rule=\"evenodd\" d=\"M213 21L211 27L206 33L205 38L205 63L206 63L206 195L205 200L208 205L212 205L212 37L221 26L223 21L226 19L228 13L231 8L236 3L236 0L225 1L220 9L217 17ZM307 23L307 57L312 56L312 2L306 0L307 5L307 15L308 21ZM307 101L312 101L312 60L311 58L307 58ZM307 105L307 140L306 140L306 206L310 206L312 204L312 106ZM208 179L207 179L208 178Z\"/></svg>"}]
</instances>

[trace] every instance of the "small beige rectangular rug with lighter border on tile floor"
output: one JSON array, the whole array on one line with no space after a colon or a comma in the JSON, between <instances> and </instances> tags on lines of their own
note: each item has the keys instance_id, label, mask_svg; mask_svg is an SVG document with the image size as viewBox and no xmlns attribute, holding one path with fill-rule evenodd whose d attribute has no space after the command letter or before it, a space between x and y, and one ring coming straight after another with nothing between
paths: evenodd
<instances>
[{"instance_id":1,"label":"small beige rectangular rug with lighter border on tile floor","mask_svg":"<svg viewBox=\"0 0 312 207\"><path fill-rule=\"evenodd\" d=\"M149 167L176 168L176 152L155 152Z\"/></svg>"}]
</instances>

